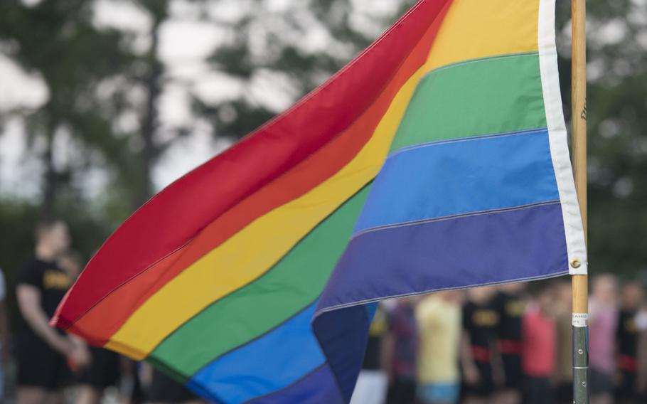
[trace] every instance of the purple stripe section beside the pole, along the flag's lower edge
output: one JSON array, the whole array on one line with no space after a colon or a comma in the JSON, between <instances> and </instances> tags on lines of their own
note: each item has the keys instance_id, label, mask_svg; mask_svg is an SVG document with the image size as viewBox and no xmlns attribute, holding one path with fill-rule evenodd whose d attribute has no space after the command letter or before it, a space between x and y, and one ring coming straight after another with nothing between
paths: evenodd
<instances>
[{"instance_id":1,"label":"purple stripe section beside the pole, along the flag's lower edge","mask_svg":"<svg viewBox=\"0 0 647 404\"><path fill-rule=\"evenodd\" d=\"M364 233L348 245L317 312L437 289L568 270L559 203Z\"/></svg>"}]
</instances>

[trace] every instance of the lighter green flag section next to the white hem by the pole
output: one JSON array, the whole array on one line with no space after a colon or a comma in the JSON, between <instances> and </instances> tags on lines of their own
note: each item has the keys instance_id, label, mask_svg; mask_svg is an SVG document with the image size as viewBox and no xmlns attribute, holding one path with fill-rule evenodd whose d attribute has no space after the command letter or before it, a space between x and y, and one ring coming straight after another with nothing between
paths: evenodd
<instances>
[{"instance_id":1,"label":"lighter green flag section next to the white hem by the pole","mask_svg":"<svg viewBox=\"0 0 647 404\"><path fill-rule=\"evenodd\" d=\"M470 60L434 70L420 81L391 151L545 126L537 53Z\"/></svg>"}]
</instances>

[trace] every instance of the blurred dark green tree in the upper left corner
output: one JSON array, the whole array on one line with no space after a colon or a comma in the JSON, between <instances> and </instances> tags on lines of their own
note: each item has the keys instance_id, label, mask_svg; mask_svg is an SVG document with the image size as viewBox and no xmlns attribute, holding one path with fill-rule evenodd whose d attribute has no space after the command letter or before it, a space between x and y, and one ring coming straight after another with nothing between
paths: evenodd
<instances>
[{"instance_id":1,"label":"blurred dark green tree in the upper left corner","mask_svg":"<svg viewBox=\"0 0 647 404\"><path fill-rule=\"evenodd\" d=\"M26 122L32 147L43 144L43 203L41 214L55 216L60 188L75 170L91 164L90 151L100 151L126 170L127 142L117 136L111 120L114 100L97 95L97 85L119 75L131 58L120 46L117 31L99 31L92 25L91 1L43 0L26 6L19 0L0 3L0 41L4 53L28 72L43 79L48 100L35 110L11 110ZM106 104L111 103L110 108ZM77 156L58 167L55 142L73 137Z\"/></svg>"}]
</instances>

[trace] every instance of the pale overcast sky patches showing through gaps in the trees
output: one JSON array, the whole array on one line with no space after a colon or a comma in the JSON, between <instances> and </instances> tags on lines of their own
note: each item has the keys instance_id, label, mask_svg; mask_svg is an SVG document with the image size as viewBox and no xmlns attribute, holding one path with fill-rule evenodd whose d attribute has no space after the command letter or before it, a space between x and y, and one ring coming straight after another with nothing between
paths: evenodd
<instances>
[{"instance_id":1,"label":"pale overcast sky patches showing through gaps in the trees","mask_svg":"<svg viewBox=\"0 0 647 404\"><path fill-rule=\"evenodd\" d=\"M23 0L25 4L36 4L39 0ZM370 4L370 13L392 13L398 0L355 0L356 4ZM245 1L219 0L214 1L210 13L218 18L237 18L244 8ZM294 8L294 0L269 0L267 6L272 11L286 11ZM231 97L242 91L236 83L232 83L222 75L213 72L204 63L204 58L218 44L223 32L220 28L204 21L198 21L196 8L189 1L174 0L171 6L172 18L164 23L160 36L160 56L164 61L171 82L176 85L166 85L161 96L159 112L162 127L178 127L183 122L192 119L189 109L188 90L196 92L203 100L216 101ZM373 28L375 37L380 33L379 28L370 26L370 18L365 18L367 29ZM100 0L95 8L95 23L97 26L119 28L133 33L139 33L136 46L143 49L148 46L146 32L150 26L148 16L137 9L128 0ZM325 47L329 38L323 29L313 26L308 38L302 38L312 48ZM280 83L268 77L260 78L252 91L255 100L279 112L289 107L293 97L280 87ZM277 87L278 86L278 87ZM272 95L267 99L267 95ZM0 52L0 110L13 107L38 107L48 99L48 90L37 75L28 75L11 59ZM42 167L38 159L26 153L26 132L20 119L11 119L0 132L0 193L12 193L21 196L36 196L39 193L39 181ZM198 125L190 136L180 139L173 144L154 170L154 184L161 189L195 168L219 151L230 146L228 139L215 140L210 125ZM69 158L73 150L66 150L68 139L57 137L56 154L60 158ZM38 147L36 147L38 149ZM68 147L69 149L69 147ZM72 156L73 157L73 156ZM101 170L87 176L87 188L90 193L102 189L107 179Z\"/></svg>"}]
</instances>

